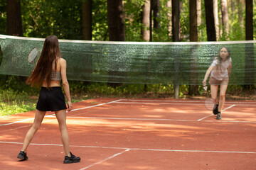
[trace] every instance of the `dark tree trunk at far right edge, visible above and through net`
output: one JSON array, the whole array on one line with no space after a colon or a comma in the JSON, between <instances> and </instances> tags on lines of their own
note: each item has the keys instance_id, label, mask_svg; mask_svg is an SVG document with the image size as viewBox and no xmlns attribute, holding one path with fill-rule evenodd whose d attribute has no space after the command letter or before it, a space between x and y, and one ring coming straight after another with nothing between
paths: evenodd
<instances>
[{"instance_id":1,"label":"dark tree trunk at far right edge, visible above and through net","mask_svg":"<svg viewBox=\"0 0 256 170\"><path fill-rule=\"evenodd\" d=\"M253 40L253 4L252 0L245 1L245 38L246 40ZM249 89L254 85L255 77L255 59L254 59L254 45L245 45L245 88Z\"/></svg>"}]
</instances>

